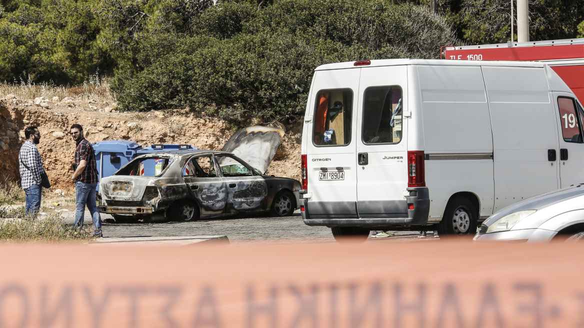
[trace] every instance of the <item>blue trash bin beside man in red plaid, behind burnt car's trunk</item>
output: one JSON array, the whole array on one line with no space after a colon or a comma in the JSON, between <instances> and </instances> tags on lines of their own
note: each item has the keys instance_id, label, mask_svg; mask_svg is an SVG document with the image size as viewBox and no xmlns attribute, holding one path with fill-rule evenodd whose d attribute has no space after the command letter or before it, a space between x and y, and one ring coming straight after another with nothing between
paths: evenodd
<instances>
[{"instance_id":1,"label":"blue trash bin beside man in red plaid, behind burnt car's trunk","mask_svg":"<svg viewBox=\"0 0 584 328\"><path fill-rule=\"evenodd\" d=\"M142 149L141 145L128 140L106 140L91 145L95 151L99 180L102 177L113 175L113 173L137 156L137 152ZM99 184L96 190L99 193Z\"/></svg>"}]
</instances>

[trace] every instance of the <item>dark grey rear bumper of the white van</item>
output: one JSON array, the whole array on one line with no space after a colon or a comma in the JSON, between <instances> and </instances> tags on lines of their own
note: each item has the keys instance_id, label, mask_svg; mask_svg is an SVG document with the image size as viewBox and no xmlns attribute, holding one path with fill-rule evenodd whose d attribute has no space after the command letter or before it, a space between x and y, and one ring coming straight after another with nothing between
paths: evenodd
<instances>
[{"instance_id":1,"label":"dark grey rear bumper of the white van","mask_svg":"<svg viewBox=\"0 0 584 328\"><path fill-rule=\"evenodd\" d=\"M388 206L388 208L399 208L401 205L404 205L405 209L397 214L392 213L387 216L381 214L380 217L360 217L358 208L356 208L359 205L345 203L335 206L335 214L327 215L323 213L323 208L325 207L321 206L321 204L302 198L300 200L301 205L304 206L302 219L307 225L328 227L351 226L371 229L400 229L409 228L410 226L427 225L428 213L430 211L430 197L427 187L408 188L407 190L410 196L405 197L405 200L388 201L388 203L396 203L395 206ZM326 205L331 207L329 204ZM317 212L312 215L311 207L317 208ZM345 207L346 211L342 210ZM409 210L411 207L413 207L413 210ZM339 212L339 209L341 212Z\"/></svg>"}]
</instances>

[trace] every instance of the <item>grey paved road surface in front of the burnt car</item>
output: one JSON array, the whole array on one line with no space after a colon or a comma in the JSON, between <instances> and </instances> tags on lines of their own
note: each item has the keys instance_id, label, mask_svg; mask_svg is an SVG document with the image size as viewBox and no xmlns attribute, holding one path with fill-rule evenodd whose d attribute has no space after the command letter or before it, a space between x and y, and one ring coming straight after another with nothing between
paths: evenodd
<instances>
[{"instance_id":1,"label":"grey paved road surface in front of the burnt car","mask_svg":"<svg viewBox=\"0 0 584 328\"><path fill-rule=\"evenodd\" d=\"M65 222L74 222L74 212L62 212ZM221 218L194 222L140 222L114 223L111 215L102 215L105 238L170 237L170 236L227 236L230 243L260 242L335 242L331 229L325 226L305 225L300 210L291 217ZM91 215L85 211L85 224L92 225ZM395 232L388 238L372 238L367 242L435 240L433 236L418 238L418 232Z\"/></svg>"}]
</instances>

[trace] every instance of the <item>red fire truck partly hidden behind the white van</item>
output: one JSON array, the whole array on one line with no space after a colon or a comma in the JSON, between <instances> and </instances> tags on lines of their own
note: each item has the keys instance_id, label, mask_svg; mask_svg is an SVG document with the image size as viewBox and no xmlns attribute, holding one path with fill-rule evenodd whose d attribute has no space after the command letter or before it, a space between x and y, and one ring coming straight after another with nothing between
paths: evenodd
<instances>
[{"instance_id":1,"label":"red fire truck partly hidden behind the white van","mask_svg":"<svg viewBox=\"0 0 584 328\"><path fill-rule=\"evenodd\" d=\"M584 39L444 46L440 58L545 62L572 89L580 103L584 102Z\"/></svg>"}]
</instances>

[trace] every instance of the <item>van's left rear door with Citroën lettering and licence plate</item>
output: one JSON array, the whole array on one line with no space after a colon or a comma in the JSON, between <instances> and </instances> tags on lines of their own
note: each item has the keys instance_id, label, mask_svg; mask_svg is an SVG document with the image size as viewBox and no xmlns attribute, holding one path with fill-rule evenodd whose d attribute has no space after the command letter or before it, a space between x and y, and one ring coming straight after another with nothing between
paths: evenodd
<instances>
[{"instance_id":1,"label":"van's left rear door with Citro\u00ebn lettering and licence plate","mask_svg":"<svg viewBox=\"0 0 584 328\"><path fill-rule=\"evenodd\" d=\"M307 203L310 218L356 218L353 109L360 68L316 71L308 102Z\"/></svg>"}]
</instances>

